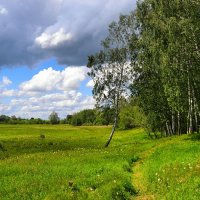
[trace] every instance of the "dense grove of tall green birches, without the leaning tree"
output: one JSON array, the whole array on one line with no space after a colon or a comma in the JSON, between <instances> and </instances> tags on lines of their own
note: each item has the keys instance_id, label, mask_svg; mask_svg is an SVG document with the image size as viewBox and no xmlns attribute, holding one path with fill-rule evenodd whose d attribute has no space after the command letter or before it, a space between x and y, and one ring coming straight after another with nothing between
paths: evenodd
<instances>
[{"instance_id":1,"label":"dense grove of tall green birches, without the leaning tree","mask_svg":"<svg viewBox=\"0 0 200 200\"><path fill-rule=\"evenodd\" d=\"M139 1L137 62L132 93L151 131L198 130L200 107L199 1Z\"/></svg>"}]
</instances>

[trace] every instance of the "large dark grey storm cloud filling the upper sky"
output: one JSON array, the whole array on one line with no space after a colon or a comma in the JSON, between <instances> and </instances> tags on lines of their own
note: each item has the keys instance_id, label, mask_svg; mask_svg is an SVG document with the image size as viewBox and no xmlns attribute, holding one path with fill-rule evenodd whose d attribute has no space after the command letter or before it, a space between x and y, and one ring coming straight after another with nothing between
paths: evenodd
<instances>
[{"instance_id":1,"label":"large dark grey storm cloud filling the upper sky","mask_svg":"<svg viewBox=\"0 0 200 200\"><path fill-rule=\"evenodd\" d=\"M31 66L49 57L83 65L108 24L134 6L134 0L1 0L0 66Z\"/></svg>"}]
</instances>

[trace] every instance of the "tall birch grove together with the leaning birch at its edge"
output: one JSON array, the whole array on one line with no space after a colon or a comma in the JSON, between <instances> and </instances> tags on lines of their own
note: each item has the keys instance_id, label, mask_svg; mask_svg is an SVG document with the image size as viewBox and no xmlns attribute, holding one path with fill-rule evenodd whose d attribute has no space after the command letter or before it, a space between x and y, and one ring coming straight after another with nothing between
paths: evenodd
<instances>
[{"instance_id":1,"label":"tall birch grove together with the leaning birch at its edge","mask_svg":"<svg viewBox=\"0 0 200 200\"><path fill-rule=\"evenodd\" d=\"M200 2L143 0L110 24L102 50L88 57L97 107L134 97L145 127L162 136L199 132Z\"/></svg>"}]
</instances>

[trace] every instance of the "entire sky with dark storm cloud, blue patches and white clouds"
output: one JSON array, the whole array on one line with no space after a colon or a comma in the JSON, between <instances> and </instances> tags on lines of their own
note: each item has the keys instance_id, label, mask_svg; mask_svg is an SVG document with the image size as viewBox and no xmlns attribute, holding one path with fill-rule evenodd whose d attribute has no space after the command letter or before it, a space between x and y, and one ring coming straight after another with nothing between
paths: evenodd
<instances>
[{"instance_id":1,"label":"entire sky with dark storm cloud, blue patches and white clouds","mask_svg":"<svg viewBox=\"0 0 200 200\"><path fill-rule=\"evenodd\" d=\"M0 115L93 108L88 55L136 0L0 0Z\"/></svg>"}]
</instances>

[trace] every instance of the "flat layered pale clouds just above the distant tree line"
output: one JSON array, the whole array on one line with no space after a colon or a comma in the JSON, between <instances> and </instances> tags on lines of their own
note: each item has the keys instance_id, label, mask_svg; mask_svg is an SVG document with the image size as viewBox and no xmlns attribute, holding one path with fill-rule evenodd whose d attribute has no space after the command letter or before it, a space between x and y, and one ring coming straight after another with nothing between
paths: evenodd
<instances>
[{"instance_id":1,"label":"flat layered pale clouds just above the distant tree line","mask_svg":"<svg viewBox=\"0 0 200 200\"><path fill-rule=\"evenodd\" d=\"M67 114L93 108L95 101L91 96L86 96L78 91L51 93L38 97L23 97L12 99L9 104L11 115L27 117L40 117L47 119L52 111L58 112L61 118ZM2 107L8 114L8 106Z\"/></svg>"}]
</instances>

